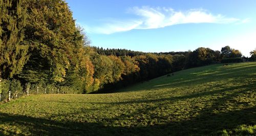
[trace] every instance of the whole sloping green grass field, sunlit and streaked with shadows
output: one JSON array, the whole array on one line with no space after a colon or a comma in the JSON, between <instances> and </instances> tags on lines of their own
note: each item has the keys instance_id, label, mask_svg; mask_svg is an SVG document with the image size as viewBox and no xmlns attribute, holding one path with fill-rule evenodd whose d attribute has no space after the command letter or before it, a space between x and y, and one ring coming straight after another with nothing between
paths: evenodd
<instances>
[{"instance_id":1,"label":"whole sloping green grass field, sunlit and streaked with shadows","mask_svg":"<svg viewBox=\"0 0 256 136\"><path fill-rule=\"evenodd\" d=\"M0 135L256 135L256 62L197 67L116 93L0 105Z\"/></svg>"}]
</instances>

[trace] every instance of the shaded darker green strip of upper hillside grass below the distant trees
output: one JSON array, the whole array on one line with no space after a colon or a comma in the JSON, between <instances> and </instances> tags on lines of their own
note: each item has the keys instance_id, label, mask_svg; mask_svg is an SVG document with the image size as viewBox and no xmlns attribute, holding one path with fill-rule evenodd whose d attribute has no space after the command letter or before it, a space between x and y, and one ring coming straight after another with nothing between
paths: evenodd
<instances>
[{"instance_id":1,"label":"shaded darker green strip of upper hillside grass below the distant trees","mask_svg":"<svg viewBox=\"0 0 256 136\"><path fill-rule=\"evenodd\" d=\"M239 63L238 63L239 64ZM229 67L230 66L230 67ZM127 88L125 90L121 90L121 92L136 92L138 90L152 90L152 89L165 89L165 88L174 88L174 87L183 87L189 85L198 85L207 82L218 82L218 81L227 81L228 79L240 78L255 78L256 73L256 64L245 64L245 65L228 65L228 66L221 66L221 65L214 65L209 67L209 70L205 72L194 72L192 70L197 70L202 67L197 67L194 69L190 69L190 73L183 74L180 71L179 75L174 75L173 77L163 77L160 79L161 82L154 82L151 80L150 82L145 82L141 84L136 84L136 88ZM189 69L188 69L189 70ZM209 71L214 71L211 73ZM186 79L186 80L184 80ZM112 93L118 93L119 91L115 91Z\"/></svg>"}]
</instances>

